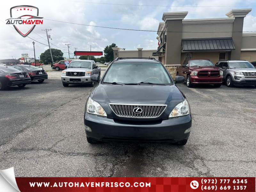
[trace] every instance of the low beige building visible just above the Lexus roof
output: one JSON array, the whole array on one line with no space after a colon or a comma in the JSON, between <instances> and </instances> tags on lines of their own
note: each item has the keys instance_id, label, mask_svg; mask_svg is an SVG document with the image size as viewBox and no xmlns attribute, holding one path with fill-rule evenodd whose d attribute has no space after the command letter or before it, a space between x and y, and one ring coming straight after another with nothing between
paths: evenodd
<instances>
[{"instance_id":1,"label":"low beige building visible just above the Lexus roof","mask_svg":"<svg viewBox=\"0 0 256 192\"><path fill-rule=\"evenodd\" d=\"M119 47L112 47L114 51L114 59L117 57L153 57L152 53L157 50L143 50L143 48L137 48L137 50L122 50ZM158 59L158 56L154 56Z\"/></svg>"}]
</instances>

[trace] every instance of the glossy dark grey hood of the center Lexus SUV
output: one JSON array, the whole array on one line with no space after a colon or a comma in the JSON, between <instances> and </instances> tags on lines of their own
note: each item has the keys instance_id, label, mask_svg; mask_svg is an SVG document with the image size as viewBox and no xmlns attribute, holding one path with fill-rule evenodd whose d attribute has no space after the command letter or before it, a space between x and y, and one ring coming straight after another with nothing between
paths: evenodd
<instances>
[{"instance_id":1,"label":"glossy dark grey hood of the center Lexus SUV","mask_svg":"<svg viewBox=\"0 0 256 192\"><path fill-rule=\"evenodd\" d=\"M159 117L168 118L172 109L185 96L175 85L106 85L99 84L92 92L93 100L100 103L108 117L117 117L109 103L124 104L166 104L164 113Z\"/></svg>"}]
</instances>

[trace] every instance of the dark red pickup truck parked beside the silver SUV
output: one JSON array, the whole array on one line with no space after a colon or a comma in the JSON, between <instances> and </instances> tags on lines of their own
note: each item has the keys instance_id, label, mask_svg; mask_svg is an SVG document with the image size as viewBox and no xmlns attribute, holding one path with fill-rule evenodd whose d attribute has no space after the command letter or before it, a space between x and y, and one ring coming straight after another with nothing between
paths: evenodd
<instances>
[{"instance_id":1,"label":"dark red pickup truck parked beside the silver SUV","mask_svg":"<svg viewBox=\"0 0 256 192\"><path fill-rule=\"evenodd\" d=\"M220 87L222 75L223 71L207 59L188 59L182 66L177 67L177 76L187 79L187 87L195 84L213 84L214 87Z\"/></svg>"}]
</instances>

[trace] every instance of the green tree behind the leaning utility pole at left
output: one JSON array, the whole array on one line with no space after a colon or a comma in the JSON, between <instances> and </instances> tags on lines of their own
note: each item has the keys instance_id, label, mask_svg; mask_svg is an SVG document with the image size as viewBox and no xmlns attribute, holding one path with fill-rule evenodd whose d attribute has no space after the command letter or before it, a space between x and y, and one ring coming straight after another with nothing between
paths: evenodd
<instances>
[{"instance_id":1,"label":"green tree behind the leaning utility pole at left","mask_svg":"<svg viewBox=\"0 0 256 192\"><path fill-rule=\"evenodd\" d=\"M44 62L44 64L48 64L52 63L52 59L53 61L57 61L57 60L63 60L63 52L59 49L54 49L51 48L52 51L52 58L51 58L51 53L50 53L50 49L45 50L45 52L41 53L40 55L40 60Z\"/></svg>"}]
</instances>

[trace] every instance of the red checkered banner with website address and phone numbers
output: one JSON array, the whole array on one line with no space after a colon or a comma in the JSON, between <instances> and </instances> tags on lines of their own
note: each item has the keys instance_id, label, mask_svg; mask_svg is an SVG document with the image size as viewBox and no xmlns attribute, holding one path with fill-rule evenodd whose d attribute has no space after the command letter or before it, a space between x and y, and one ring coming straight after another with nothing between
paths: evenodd
<instances>
[{"instance_id":1,"label":"red checkered banner with website address and phone numbers","mask_svg":"<svg viewBox=\"0 0 256 192\"><path fill-rule=\"evenodd\" d=\"M253 177L16 177L23 191L255 192Z\"/></svg>"}]
</instances>

